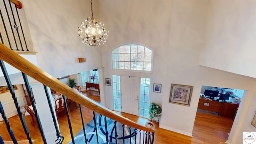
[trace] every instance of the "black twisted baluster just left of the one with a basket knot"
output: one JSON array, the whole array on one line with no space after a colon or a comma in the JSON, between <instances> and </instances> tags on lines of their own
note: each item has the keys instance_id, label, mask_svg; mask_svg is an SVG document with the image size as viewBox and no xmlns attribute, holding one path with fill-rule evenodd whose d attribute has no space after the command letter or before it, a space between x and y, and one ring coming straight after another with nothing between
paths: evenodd
<instances>
[{"instance_id":1,"label":"black twisted baluster just left of the one with a basket knot","mask_svg":"<svg viewBox=\"0 0 256 144\"><path fill-rule=\"evenodd\" d=\"M30 88L30 85L29 85L29 83L28 83L27 75L22 72L22 76L23 76L23 80L24 80L24 82L25 82L26 89L27 89L27 91L28 91L28 96L29 96L29 98L30 98L30 102L31 102L31 104L32 104L32 107L33 107L33 110L34 110L34 113L35 113L36 122L37 122L37 125L38 125L38 128L39 128L39 131L40 131L40 133L41 133L42 140L43 140L44 144L47 144L46 138L45 138L45 136L44 136L44 130L43 130L43 128L42 128L42 124L41 124L41 121L40 121L40 118L39 118L39 116L38 116L38 112L37 112L37 109L36 109L35 100L34 100L34 98L33 98L33 96L32 96L31 88Z\"/></svg>"}]
</instances>

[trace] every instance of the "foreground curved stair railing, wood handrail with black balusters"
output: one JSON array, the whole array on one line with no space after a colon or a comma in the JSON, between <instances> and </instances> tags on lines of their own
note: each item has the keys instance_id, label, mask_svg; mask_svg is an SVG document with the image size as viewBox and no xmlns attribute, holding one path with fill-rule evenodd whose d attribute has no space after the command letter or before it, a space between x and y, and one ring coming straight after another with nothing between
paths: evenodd
<instances>
[{"instance_id":1,"label":"foreground curved stair railing, wood handrail with black balusters","mask_svg":"<svg viewBox=\"0 0 256 144\"><path fill-rule=\"evenodd\" d=\"M34 78L35 80L37 80L38 82L44 84L44 89L46 92L46 97L48 99L48 103L49 103L49 107L52 113L52 120L54 122L54 126L56 129L56 143L57 144L62 144L63 142L63 136L60 134L60 131L58 130L58 125L56 123L56 117L54 116L54 108L51 105L50 102L50 98L51 96L49 96L49 92L47 90L47 87L60 92L63 95L63 99L64 99L64 106L65 106L65 111L66 111L66 115L68 117L68 124L69 124L69 128L70 128L70 135L72 138L72 144L75 144L75 138L73 136L73 132L72 132L72 126L71 126L71 122L70 122L70 118L69 118L69 114L68 114L68 108L67 108L67 103L66 103L66 98L70 98L71 100L74 100L75 102L79 103L80 106L85 106L91 110L93 110L94 112L97 112L100 115L103 115L104 117L101 119L102 121L104 121L105 123L105 136L106 136L106 143L108 144L113 144L115 142L110 140L110 136L108 135L110 133L110 131L108 130L107 126L107 120L106 118L111 118L112 120L114 120L114 124L116 124L116 122L119 122L121 124L123 124L123 130L128 131L128 136L123 136L123 143L134 143L134 144L153 144L154 142L154 132L155 130L152 129L152 127L148 128L146 126L142 126L140 124L137 124L136 122L133 122L127 118L124 118L123 116L120 116L118 114L116 114L115 112L105 108L104 106L98 104L97 102L95 102L94 100L91 100L90 98L87 98L86 96L80 94L79 92L77 92L76 90L70 88L69 86L67 86L66 84L60 82L59 80L57 80L56 78L50 76L49 74L47 74L46 72L44 72L43 70L41 70L40 68L38 68L37 66L33 65L32 63L28 62L26 59L22 58L20 55L16 54L15 52L13 52L12 50L10 50L9 48L7 48L4 44L0 43L0 66L2 69L2 72L4 73L4 77L5 80L8 84L8 88L10 89L10 92L12 94L12 98L14 100L14 104L17 108L17 112L19 114L20 117L20 121L22 122L22 126L24 128L25 134L27 136L28 142L30 144L32 144L32 139L30 137L28 128L26 126L26 122L24 121L22 112L20 110L20 105L19 102L16 98L16 95L14 93L14 89L12 87L12 83L10 81L10 78L8 76L8 72L6 71L6 68L4 66L4 62L12 65L13 67L17 68L18 70L20 70L22 72L22 76L26 85L26 89L28 90L29 93L29 97L30 97L30 101L32 103L32 107L34 109L34 113L36 116L36 121L38 123L38 129L40 130L41 136L42 136L42 140L44 142L44 144L46 144L46 138L44 135L44 130L42 128L41 122L40 122L40 118L38 116L38 112L36 109L36 104L34 102L34 98L31 94L31 89L28 83L28 78L27 75L30 76L31 78ZM84 132L85 130L85 125L83 122L83 116L82 116L82 109L80 107L80 113L81 113L81 121L83 124L83 128L84 128ZM4 118L4 122L8 128L8 132L10 134L10 137L12 138L12 141L14 142L14 144L17 144L17 140L12 132L12 128L10 127L8 118L6 118L6 114L4 112L4 109L2 107L2 104L0 102L0 113L2 114L2 117ZM96 118L94 116L94 126L95 126L95 130L94 132L96 132L96 140L97 143L99 144L99 136L98 136L98 132L97 132L97 124L96 124ZM147 124L147 126L151 126L154 124ZM128 126L128 128L126 127ZM102 128L102 126L101 126ZM135 133L133 134L135 136L135 139L132 140L132 129L136 130ZM102 129L101 129L102 130ZM117 128L116 126L114 126L114 128L112 129L112 131L115 131L115 133L112 133L111 138L115 140L118 140L118 135L116 133ZM130 132L129 132L130 131ZM123 132L124 133L124 132ZM114 136L113 136L114 134ZM86 134L84 135L85 138L85 142L87 144L87 142L89 142L90 139L86 138ZM120 138L119 138L120 139ZM125 141L125 139L128 141ZM105 142L104 141L104 142ZM3 142L2 137L0 135L0 142ZM119 143L119 142L118 142ZM90 143L89 143L90 144Z\"/></svg>"}]
</instances>

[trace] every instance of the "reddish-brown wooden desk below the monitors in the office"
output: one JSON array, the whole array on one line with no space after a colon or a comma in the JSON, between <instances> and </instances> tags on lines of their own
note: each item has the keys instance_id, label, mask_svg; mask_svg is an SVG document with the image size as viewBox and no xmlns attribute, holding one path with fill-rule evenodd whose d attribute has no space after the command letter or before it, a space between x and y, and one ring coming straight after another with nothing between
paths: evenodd
<instances>
[{"instance_id":1,"label":"reddish-brown wooden desk below the monitors in the office","mask_svg":"<svg viewBox=\"0 0 256 144\"><path fill-rule=\"evenodd\" d=\"M206 99L199 99L198 108L202 110L209 110L212 112L218 112L220 116L226 116L232 118L236 115L238 104L232 104L230 102L217 102Z\"/></svg>"}]
</instances>

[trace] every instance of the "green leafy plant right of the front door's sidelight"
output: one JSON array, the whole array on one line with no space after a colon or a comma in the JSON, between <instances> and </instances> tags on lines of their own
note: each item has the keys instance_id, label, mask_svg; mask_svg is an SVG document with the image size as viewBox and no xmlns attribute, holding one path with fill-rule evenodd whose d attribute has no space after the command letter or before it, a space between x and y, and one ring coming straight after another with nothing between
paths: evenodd
<instances>
[{"instance_id":1,"label":"green leafy plant right of the front door's sidelight","mask_svg":"<svg viewBox=\"0 0 256 144\"><path fill-rule=\"evenodd\" d=\"M158 118L158 122L160 117L162 116L162 108L158 104L154 104L153 102L149 106L149 118L151 121L155 121Z\"/></svg>"}]
</instances>

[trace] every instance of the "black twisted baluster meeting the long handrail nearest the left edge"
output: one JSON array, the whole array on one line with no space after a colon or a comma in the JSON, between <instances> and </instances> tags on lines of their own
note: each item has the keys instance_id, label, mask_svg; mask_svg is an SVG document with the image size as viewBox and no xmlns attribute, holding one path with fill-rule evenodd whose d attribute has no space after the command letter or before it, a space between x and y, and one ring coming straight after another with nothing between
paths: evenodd
<instances>
[{"instance_id":1,"label":"black twisted baluster meeting the long handrail nearest the left edge","mask_svg":"<svg viewBox=\"0 0 256 144\"><path fill-rule=\"evenodd\" d=\"M11 81L10 81L10 78L9 78L9 76L8 76L8 73L7 73L7 71L6 71L6 68L5 68L5 66L4 66L4 61L3 61L3 60L0 60L0 66L1 66L1 68L2 68L2 72L3 72L3 74L4 74L4 78L5 78L5 80L6 80L6 83L7 83L7 85L8 85L8 88L9 88L9 90L10 90L10 93L12 94L12 99L14 100L14 104L15 104L16 109L17 109L17 112L18 112L18 114L19 114L20 121L21 121L21 123L22 123L22 126L23 126L23 129L24 129L24 131L25 131L25 134L26 134L26 136L27 136L27 138L28 138L29 143L32 144L32 140L31 140L30 134L29 134L29 132L28 132L28 127L27 127L27 125L26 125L26 122L25 122L24 117L23 117L23 115L22 115L22 112L21 112L21 110L20 110L19 102L18 102L17 97L16 97L16 95L15 95L15 93L14 93L14 89L13 89L13 87L12 87L12 83L11 83Z\"/></svg>"}]
</instances>

